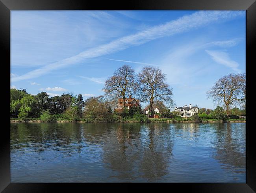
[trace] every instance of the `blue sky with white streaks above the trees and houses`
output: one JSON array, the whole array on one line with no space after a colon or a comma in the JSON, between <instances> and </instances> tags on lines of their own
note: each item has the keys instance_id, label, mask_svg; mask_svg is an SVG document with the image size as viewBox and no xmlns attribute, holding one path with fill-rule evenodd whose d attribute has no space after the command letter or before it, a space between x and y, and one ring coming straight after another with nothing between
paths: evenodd
<instances>
[{"instance_id":1,"label":"blue sky with white streaks above the trees and houses","mask_svg":"<svg viewBox=\"0 0 256 193\"><path fill-rule=\"evenodd\" d=\"M245 11L11 11L11 87L50 97L103 95L120 66L166 74L177 106L245 73Z\"/></svg>"}]
</instances>

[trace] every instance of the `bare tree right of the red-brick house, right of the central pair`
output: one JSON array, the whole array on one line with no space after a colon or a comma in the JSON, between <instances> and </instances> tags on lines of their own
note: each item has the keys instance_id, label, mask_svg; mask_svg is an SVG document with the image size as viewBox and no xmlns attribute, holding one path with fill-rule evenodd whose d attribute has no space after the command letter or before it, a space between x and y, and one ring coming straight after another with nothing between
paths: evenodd
<instances>
[{"instance_id":1,"label":"bare tree right of the red-brick house, right of the central pair","mask_svg":"<svg viewBox=\"0 0 256 193\"><path fill-rule=\"evenodd\" d=\"M154 100L164 102L172 101L172 89L165 83L165 74L159 68L144 67L137 75L138 96L142 102L149 101L150 112L152 114L152 105Z\"/></svg>"}]
</instances>

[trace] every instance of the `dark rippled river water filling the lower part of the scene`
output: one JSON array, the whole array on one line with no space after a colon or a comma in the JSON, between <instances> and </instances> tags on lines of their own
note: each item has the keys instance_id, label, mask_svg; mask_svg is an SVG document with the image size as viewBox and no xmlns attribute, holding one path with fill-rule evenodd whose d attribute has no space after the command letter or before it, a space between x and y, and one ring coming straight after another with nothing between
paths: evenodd
<instances>
[{"instance_id":1,"label":"dark rippled river water filling the lower part of the scene","mask_svg":"<svg viewBox=\"0 0 256 193\"><path fill-rule=\"evenodd\" d=\"M11 182L245 183L245 123L11 123Z\"/></svg>"}]
</instances>

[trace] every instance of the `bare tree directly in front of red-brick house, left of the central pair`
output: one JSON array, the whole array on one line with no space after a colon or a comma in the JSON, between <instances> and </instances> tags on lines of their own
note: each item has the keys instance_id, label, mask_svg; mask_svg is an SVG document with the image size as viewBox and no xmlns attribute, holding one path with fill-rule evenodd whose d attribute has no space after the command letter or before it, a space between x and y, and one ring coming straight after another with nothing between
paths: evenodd
<instances>
[{"instance_id":1,"label":"bare tree directly in front of red-brick house, left of the central pair","mask_svg":"<svg viewBox=\"0 0 256 193\"><path fill-rule=\"evenodd\" d=\"M105 81L104 91L111 98L122 97L124 109L125 97L135 92L134 69L124 65L114 72L114 75Z\"/></svg>"}]
</instances>

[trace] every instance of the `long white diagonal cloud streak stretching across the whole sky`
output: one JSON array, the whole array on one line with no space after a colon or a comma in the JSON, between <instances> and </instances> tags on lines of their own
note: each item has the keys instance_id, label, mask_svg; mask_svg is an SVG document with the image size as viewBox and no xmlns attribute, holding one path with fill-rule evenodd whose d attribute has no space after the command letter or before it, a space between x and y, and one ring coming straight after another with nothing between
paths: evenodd
<instances>
[{"instance_id":1,"label":"long white diagonal cloud streak stretching across the whole sky","mask_svg":"<svg viewBox=\"0 0 256 193\"><path fill-rule=\"evenodd\" d=\"M213 22L224 22L237 16L242 16L243 14L244 11L198 11L191 15L182 16L176 20L167 22L166 24L157 25L139 33L124 36L108 44L87 49L78 55L48 64L24 75L14 77L12 81L17 82L20 80L36 78L38 76L45 75L52 70L76 64L88 58L115 53L131 46L145 44L148 41L155 40L163 36L171 36L178 33L187 32Z\"/></svg>"}]
</instances>

